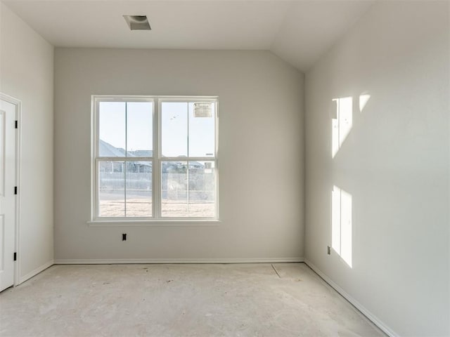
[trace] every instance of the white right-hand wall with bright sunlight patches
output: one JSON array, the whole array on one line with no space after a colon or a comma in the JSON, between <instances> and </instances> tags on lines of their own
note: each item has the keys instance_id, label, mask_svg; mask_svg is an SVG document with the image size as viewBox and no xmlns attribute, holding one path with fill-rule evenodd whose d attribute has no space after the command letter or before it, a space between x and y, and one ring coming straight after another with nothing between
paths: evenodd
<instances>
[{"instance_id":1,"label":"white right-hand wall with bright sunlight patches","mask_svg":"<svg viewBox=\"0 0 450 337\"><path fill-rule=\"evenodd\" d=\"M392 333L449 336L449 2L380 1L305 86L307 260ZM331 103L349 96L332 159ZM352 268L326 253L333 185L352 194Z\"/></svg>"}]
</instances>

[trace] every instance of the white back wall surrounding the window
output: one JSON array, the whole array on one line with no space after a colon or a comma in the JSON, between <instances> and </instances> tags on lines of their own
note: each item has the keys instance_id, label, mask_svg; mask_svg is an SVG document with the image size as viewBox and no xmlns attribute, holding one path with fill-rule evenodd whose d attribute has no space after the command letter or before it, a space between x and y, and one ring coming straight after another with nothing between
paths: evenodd
<instances>
[{"instance_id":1,"label":"white back wall surrounding the window","mask_svg":"<svg viewBox=\"0 0 450 337\"><path fill-rule=\"evenodd\" d=\"M303 257L300 72L266 51L56 48L55 74L56 260ZM93 94L219 95L219 226L86 224Z\"/></svg>"}]
</instances>

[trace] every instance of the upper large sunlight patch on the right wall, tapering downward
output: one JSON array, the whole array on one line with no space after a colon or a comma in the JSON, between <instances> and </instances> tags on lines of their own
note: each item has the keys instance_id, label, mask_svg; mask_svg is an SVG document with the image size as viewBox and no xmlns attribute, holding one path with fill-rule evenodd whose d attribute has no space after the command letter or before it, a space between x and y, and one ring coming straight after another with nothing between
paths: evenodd
<instances>
[{"instance_id":1,"label":"upper large sunlight patch on the right wall, tapering downward","mask_svg":"<svg viewBox=\"0 0 450 337\"><path fill-rule=\"evenodd\" d=\"M338 153L353 126L353 98L335 98L332 121L332 157Z\"/></svg>"}]
</instances>

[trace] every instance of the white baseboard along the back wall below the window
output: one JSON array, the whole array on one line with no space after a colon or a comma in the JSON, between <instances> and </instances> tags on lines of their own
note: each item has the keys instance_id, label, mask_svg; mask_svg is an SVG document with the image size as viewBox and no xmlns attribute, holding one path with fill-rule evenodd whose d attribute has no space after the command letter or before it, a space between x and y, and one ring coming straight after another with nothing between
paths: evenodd
<instances>
[{"instance_id":1,"label":"white baseboard along the back wall below the window","mask_svg":"<svg viewBox=\"0 0 450 337\"><path fill-rule=\"evenodd\" d=\"M290 263L303 258L106 258L58 259L56 265L114 265L120 263Z\"/></svg>"}]
</instances>

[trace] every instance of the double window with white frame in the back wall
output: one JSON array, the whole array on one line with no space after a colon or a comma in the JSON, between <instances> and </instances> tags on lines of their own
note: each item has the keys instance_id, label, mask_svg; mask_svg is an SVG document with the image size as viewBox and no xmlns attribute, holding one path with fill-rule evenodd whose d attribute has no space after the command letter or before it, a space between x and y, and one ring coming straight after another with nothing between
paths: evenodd
<instances>
[{"instance_id":1,"label":"double window with white frame in the back wall","mask_svg":"<svg viewBox=\"0 0 450 337\"><path fill-rule=\"evenodd\" d=\"M93 96L92 219L217 219L217 98Z\"/></svg>"}]
</instances>

